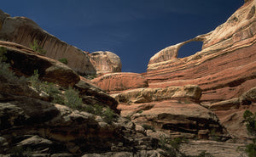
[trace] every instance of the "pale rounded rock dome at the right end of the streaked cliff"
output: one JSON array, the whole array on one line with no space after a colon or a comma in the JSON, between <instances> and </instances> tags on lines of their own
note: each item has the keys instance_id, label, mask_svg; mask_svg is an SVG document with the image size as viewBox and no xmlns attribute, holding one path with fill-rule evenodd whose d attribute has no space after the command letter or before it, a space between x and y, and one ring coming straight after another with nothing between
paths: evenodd
<instances>
[{"instance_id":1,"label":"pale rounded rock dome at the right end of the streaked cliff","mask_svg":"<svg viewBox=\"0 0 256 157\"><path fill-rule=\"evenodd\" d=\"M108 51L90 53L90 62L95 67L97 74L121 72L122 64L119 56Z\"/></svg>"}]
</instances>

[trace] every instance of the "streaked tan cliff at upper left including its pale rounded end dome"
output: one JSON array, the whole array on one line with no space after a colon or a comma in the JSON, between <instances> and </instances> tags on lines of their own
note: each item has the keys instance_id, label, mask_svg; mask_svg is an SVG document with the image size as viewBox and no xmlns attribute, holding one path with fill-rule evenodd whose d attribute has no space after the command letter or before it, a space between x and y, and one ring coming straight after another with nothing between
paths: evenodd
<instances>
[{"instance_id":1,"label":"streaked tan cliff at upper left including its pale rounded end dome","mask_svg":"<svg viewBox=\"0 0 256 157\"><path fill-rule=\"evenodd\" d=\"M44 31L34 21L26 17L10 17L0 10L0 40L19 43L29 47L36 40L38 45L46 51L45 56L51 59L67 59L67 64L82 75L91 75L102 72L120 72L121 62L114 53L98 56L73 47L57 37Z\"/></svg>"}]
</instances>

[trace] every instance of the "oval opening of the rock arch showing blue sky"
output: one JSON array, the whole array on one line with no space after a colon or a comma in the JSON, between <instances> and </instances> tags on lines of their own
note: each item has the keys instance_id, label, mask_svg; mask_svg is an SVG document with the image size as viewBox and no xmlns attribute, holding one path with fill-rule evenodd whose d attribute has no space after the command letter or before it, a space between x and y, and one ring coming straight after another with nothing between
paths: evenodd
<instances>
[{"instance_id":1,"label":"oval opening of the rock arch showing blue sky","mask_svg":"<svg viewBox=\"0 0 256 157\"><path fill-rule=\"evenodd\" d=\"M201 41L192 41L184 44L181 48L179 48L177 58L185 58L201 51L202 45L203 42Z\"/></svg>"}]
</instances>

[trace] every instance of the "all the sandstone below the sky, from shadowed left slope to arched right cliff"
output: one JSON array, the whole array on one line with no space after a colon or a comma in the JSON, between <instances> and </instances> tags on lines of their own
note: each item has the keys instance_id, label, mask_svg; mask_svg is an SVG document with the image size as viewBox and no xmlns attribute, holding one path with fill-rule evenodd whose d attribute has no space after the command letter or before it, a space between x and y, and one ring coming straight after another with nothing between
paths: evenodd
<instances>
[{"instance_id":1,"label":"all the sandstone below the sky, from shadowed left slope to arched right cliff","mask_svg":"<svg viewBox=\"0 0 256 157\"><path fill-rule=\"evenodd\" d=\"M245 1L214 31L164 48L143 74L120 72L114 53L85 53L1 12L0 154L247 156L252 136L242 115L256 111L255 7ZM28 48L35 39L45 54ZM202 50L177 58L193 41ZM34 86L35 70L54 94ZM77 106L67 104L71 88Z\"/></svg>"}]
</instances>

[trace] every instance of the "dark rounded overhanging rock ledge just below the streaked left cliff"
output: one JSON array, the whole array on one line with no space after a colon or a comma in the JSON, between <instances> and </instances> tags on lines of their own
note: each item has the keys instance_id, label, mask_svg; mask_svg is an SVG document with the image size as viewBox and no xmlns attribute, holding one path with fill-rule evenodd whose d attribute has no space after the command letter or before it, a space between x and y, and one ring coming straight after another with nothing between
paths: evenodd
<instances>
[{"instance_id":1,"label":"dark rounded overhanging rock ledge just below the streaked left cliff","mask_svg":"<svg viewBox=\"0 0 256 157\"><path fill-rule=\"evenodd\" d=\"M55 59L49 59L31 50L19 47L12 42L0 42L0 47L7 48L7 57L11 67L17 74L32 76L34 70L44 81L55 82L63 87L73 87L80 79L79 75Z\"/></svg>"}]
</instances>

